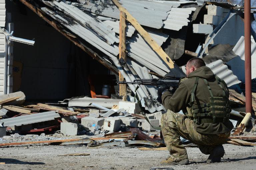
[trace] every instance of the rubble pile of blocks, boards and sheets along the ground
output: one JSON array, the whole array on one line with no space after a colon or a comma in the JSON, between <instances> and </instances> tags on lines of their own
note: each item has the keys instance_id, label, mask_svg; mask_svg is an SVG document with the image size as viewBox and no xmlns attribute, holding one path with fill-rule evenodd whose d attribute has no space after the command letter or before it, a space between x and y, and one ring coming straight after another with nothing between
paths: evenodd
<instances>
[{"instance_id":1,"label":"rubble pile of blocks, boards and sheets along the ground","mask_svg":"<svg viewBox=\"0 0 256 170\"><path fill-rule=\"evenodd\" d=\"M142 115L144 108L136 102L76 97L57 104L28 105L22 92L2 95L0 99L0 146L32 143L83 144L91 148L165 146L160 130L153 127L160 127L161 117L166 111ZM230 103L233 109L230 120L235 127L231 133L236 134L247 117L246 113L239 111L243 110L245 97L230 90ZM253 110L255 106L253 101ZM256 144L254 115L244 124L242 135L230 136L228 143Z\"/></svg>"}]
</instances>

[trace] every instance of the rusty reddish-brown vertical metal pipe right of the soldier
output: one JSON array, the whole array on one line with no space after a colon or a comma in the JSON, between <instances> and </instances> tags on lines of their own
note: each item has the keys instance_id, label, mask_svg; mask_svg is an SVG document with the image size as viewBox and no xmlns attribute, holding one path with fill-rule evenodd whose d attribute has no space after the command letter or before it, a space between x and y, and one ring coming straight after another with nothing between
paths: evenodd
<instances>
[{"instance_id":1,"label":"rusty reddish-brown vertical metal pipe right of the soldier","mask_svg":"<svg viewBox=\"0 0 256 170\"><path fill-rule=\"evenodd\" d=\"M244 37L245 37L245 101L246 113L252 113L251 84L251 0L244 1Z\"/></svg>"}]
</instances>

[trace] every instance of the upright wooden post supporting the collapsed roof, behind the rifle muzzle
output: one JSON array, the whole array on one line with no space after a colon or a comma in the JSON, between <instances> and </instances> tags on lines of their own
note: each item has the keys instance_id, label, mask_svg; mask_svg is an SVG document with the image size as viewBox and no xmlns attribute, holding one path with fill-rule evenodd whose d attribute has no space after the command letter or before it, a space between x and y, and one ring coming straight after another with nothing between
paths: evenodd
<instances>
[{"instance_id":1,"label":"upright wooden post supporting the collapsed roof, behind the rifle muzzle","mask_svg":"<svg viewBox=\"0 0 256 170\"><path fill-rule=\"evenodd\" d=\"M126 39L125 39L125 23L126 15L123 11L120 11L120 22L119 22L119 58L123 58L126 61ZM119 71L119 81L124 81L123 75ZM126 84L119 84L119 95L124 96L126 101L127 91Z\"/></svg>"}]
</instances>

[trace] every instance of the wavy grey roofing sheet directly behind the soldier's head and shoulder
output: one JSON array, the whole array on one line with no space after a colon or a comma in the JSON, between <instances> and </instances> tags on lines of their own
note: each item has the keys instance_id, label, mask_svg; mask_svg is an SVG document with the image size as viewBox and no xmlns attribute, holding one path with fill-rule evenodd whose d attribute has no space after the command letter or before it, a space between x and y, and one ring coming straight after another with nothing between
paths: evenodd
<instances>
[{"instance_id":1,"label":"wavy grey roofing sheet directly behind the soldier's head and shoulder","mask_svg":"<svg viewBox=\"0 0 256 170\"><path fill-rule=\"evenodd\" d=\"M224 80L228 87L241 83L237 76L235 76L233 72L228 69L228 66L223 64L222 60L211 62L210 64L206 64L206 66L208 66L219 78Z\"/></svg>"}]
</instances>

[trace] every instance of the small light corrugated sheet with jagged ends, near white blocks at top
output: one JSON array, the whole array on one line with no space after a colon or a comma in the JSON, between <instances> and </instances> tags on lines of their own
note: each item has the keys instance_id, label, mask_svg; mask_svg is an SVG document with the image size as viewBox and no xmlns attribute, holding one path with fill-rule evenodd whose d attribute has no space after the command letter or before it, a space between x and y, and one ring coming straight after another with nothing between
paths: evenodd
<instances>
[{"instance_id":1,"label":"small light corrugated sheet with jagged ends, near white blocks at top","mask_svg":"<svg viewBox=\"0 0 256 170\"><path fill-rule=\"evenodd\" d=\"M167 12L168 17L164 21L163 28L169 30L179 31L183 26L187 26L190 20L189 15L196 8L172 8L171 11Z\"/></svg>"}]
</instances>

